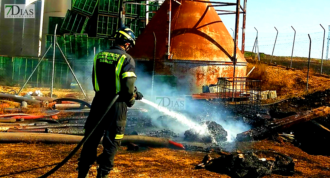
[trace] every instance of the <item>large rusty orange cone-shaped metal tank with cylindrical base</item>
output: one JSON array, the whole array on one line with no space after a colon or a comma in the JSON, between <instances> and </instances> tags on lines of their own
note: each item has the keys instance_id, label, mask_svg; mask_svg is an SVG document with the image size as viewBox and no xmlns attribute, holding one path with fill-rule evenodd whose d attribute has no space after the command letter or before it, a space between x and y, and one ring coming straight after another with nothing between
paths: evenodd
<instances>
[{"instance_id":1,"label":"large rusty orange cone-shaped metal tank with cylindrical base","mask_svg":"<svg viewBox=\"0 0 330 178\"><path fill-rule=\"evenodd\" d=\"M166 0L128 53L155 75L177 76L177 89L185 94L202 92L203 85L216 84L218 77L233 77L234 41L210 3L171 2L170 54ZM156 41L156 45L155 45ZM235 77L245 77L247 61L237 48Z\"/></svg>"}]
</instances>

